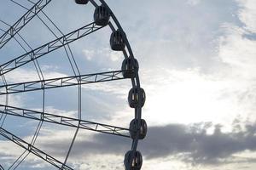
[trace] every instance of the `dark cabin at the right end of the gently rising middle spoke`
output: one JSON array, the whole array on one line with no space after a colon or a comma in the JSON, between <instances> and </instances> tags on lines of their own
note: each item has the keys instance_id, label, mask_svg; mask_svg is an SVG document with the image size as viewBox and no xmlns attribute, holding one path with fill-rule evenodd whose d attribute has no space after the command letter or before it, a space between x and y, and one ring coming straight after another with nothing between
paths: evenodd
<instances>
[{"instance_id":1,"label":"dark cabin at the right end of the gently rising middle spoke","mask_svg":"<svg viewBox=\"0 0 256 170\"><path fill-rule=\"evenodd\" d=\"M134 78L138 67L137 59L131 57L124 59L122 64L123 76L125 78Z\"/></svg>"}]
</instances>

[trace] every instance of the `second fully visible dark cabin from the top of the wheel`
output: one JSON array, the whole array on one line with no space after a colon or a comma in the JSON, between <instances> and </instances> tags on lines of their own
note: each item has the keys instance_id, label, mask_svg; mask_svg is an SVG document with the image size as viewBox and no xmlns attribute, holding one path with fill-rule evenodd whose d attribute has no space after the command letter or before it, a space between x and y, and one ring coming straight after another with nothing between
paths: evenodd
<instances>
[{"instance_id":1,"label":"second fully visible dark cabin from the top of the wheel","mask_svg":"<svg viewBox=\"0 0 256 170\"><path fill-rule=\"evenodd\" d=\"M113 31L110 37L110 46L114 51L123 51L125 49L125 32Z\"/></svg>"}]
</instances>

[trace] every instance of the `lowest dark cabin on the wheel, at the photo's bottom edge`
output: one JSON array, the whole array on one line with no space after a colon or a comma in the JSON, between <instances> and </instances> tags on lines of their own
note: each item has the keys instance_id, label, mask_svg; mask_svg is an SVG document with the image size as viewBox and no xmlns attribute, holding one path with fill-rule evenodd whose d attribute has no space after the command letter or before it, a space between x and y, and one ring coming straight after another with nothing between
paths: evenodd
<instances>
[{"instance_id":1,"label":"lowest dark cabin on the wheel, at the photo's bottom edge","mask_svg":"<svg viewBox=\"0 0 256 170\"><path fill-rule=\"evenodd\" d=\"M133 159L132 156L132 150L126 152L125 154L125 170L140 170L143 166L143 156L139 151L135 152L135 155ZM131 168L129 169L129 166L131 164Z\"/></svg>"}]
</instances>

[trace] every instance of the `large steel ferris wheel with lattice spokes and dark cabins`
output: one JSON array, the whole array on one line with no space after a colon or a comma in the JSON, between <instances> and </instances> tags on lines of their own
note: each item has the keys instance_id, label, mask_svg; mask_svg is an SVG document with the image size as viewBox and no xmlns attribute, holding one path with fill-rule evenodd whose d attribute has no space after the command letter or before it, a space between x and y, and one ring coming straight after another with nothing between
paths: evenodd
<instances>
[{"instance_id":1,"label":"large steel ferris wheel with lattice spokes and dark cabins","mask_svg":"<svg viewBox=\"0 0 256 170\"><path fill-rule=\"evenodd\" d=\"M94 14L93 17L91 17L93 18L93 21L64 34L61 31L61 28L59 28L57 24L50 19L49 15L44 12L44 9L47 8L47 6L50 6L54 1L27 0L27 3L31 3L30 8L27 8L18 0L6 1L14 3L14 5L19 8L25 9L26 13L22 14L14 24L10 24L8 21L3 20L2 17L0 17L0 22L4 25L4 28L0 27L0 51L5 50L4 48L9 45L9 42L16 42L17 48L20 46L20 48L24 50L24 54L20 54L12 59L0 63L0 76L2 78L2 82L0 84L0 97L2 98L0 100L0 142L1 140L8 140L24 151L20 156L15 158L15 161L9 164L0 161L0 169L16 169L29 155L37 156L45 163L49 163L53 169L75 169L74 167L67 165L68 157L70 152L73 150L74 142L79 134L78 132L83 130L131 139L131 148L127 148L127 152L124 153L124 167L125 170L141 169L143 165L143 156L140 151L137 150L137 144L138 141L144 139L147 134L147 124L142 119L142 108L145 103L146 96L140 85L137 59L135 59L135 56L132 53L125 31L120 26L119 20L117 20L111 8L108 7L108 4L104 0L73 1L73 3L77 3L76 5L84 6L84 8L89 8L88 4L91 3L91 6L94 7ZM44 18L40 17L39 14L44 15ZM26 26L31 26L29 23L35 18L38 18L44 26L49 29L49 31L55 36L55 39L45 42L44 44L40 44L37 48L32 48L29 42L26 41L26 37L22 37L20 32L22 32L23 28ZM48 22L55 27L55 30L51 29L45 20L48 20ZM105 27L109 27L112 32L111 35L109 35L111 49L113 51L122 52L124 56L123 62L120 63L120 69L118 71L103 71L90 74L83 73L77 64L76 57L73 55L70 44L87 37L92 33L95 34L99 30L107 29ZM55 31L58 31L61 36L57 36L58 34L55 33ZM29 50L27 50L27 48ZM42 71L42 66L39 64L38 59L43 59L45 56L53 53L59 48L63 48L67 54L68 65L72 68L72 72L70 74L72 76L46 78L44 77L44 71ZM7 52L5 53L8 54ZM1 56L1 58L3 57L4 56ZM7 74L12 75L12 73L17 69L28 64L32 64L34 66L34 70L38 75L37 80L24 81L23 79L21 82L14 82L13 80L9 81L9 78L6 77ZM92 83L101 84L103 82L112 82L123 79L129 79L131 81L131 90L127 92L127 94L128 104L134 110L134 119L127 120L127 122L130 122L130 127L119 127L113 124L110 125L84 120L82 118L83 112L81 110L83 105L81 97L82 88ZM64 114L59 115L45 111L45 103L48 99L45 97L47 91L65 87L76 87L79 92L77 94L79 98L78 115L75 118ZM10 103L12 103L10 95L33 92L42 93L41 99L43 104L40 110L32 110L16 105L10 105ZM26 139L22 139L22 137L20 137L19 130L17 130L19 126L17 126L16 122L8 122L7 120L9 117L16 117L20 119L20 122L24 119L38 122L38 126L31 141L26 141ZM72 143L67 148L68 151L65 156L65 161L58 160L55 156L51 156L49 153L46 153L44 150L41 150L36 146L36 143L39 140L38 135L44 123L57 124L59 126L72 127L76 129L73 134ZM11 128L9 129L8 127ZM14 130L15 128L16 130ZM15 131L15 133L13 131Z\"/></svg>"}]
</instances>

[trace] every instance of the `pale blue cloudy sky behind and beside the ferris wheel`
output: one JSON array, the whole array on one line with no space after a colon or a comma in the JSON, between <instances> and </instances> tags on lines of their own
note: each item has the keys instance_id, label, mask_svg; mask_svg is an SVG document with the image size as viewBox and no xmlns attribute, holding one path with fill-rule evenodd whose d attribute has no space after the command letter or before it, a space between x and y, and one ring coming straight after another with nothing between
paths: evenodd
<instances>
[{"instance_id":1,"label":"pale blue cloudy sky behind and beside the ferris wheel","mask_svg":"<svg viewBox=\"0 0 256 170\"><path fill-rule=\"evenodd\" d=\"M19 2L32 7L27 0ZM256 2L106 2L131 43L147 95L143 119L148 123L148 134L138 144L143 154L142 169L255 169ZM9 0L0 4L0 20L9 25L26 13ZM79 6L70 0L53 0L44 8L63 33L92 22L93 12L91 4ZM38 15L61 36L44 14ZM0 28L6 30L8 26L0 23ZM124 56L110 49L110 34L109 27L105 27L70 44L79 71L87 74L120 70ZM55 39L38 17L20 35L32 48ZM12 39L0 50L0 64L24 53ZM38 59L38 63L45 78L73 75L63 48ZM38 80L33 63L5 76L9 83ZM128 80L83 85L82 118L129 127L134 116L127 101L130 88ZM0 101L4 105L5 96L0 96ZM45 92L45 112L78 117L78 101L78 87L49 89ZM42 103L42 91L9 95L12 106L41 111ZM3 124L28 142L37 126L37 121L16 116L7 116ZM44 122L35 146L64 161L74 133L75 128ZM130 139L79 130L67 165L81 170L124 169L124 155L130 148ZM0 136L0 164L4 168L9 168L23 151ZM55 167L29 154L17 169Z\"/></svg>"}]
</instances>

